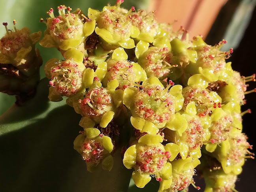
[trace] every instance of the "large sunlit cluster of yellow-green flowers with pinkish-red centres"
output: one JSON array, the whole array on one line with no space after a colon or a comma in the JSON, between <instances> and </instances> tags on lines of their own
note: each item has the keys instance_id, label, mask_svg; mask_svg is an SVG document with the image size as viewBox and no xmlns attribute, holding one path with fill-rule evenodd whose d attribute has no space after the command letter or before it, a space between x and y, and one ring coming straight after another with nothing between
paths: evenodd
<instances>
[{"instance_id":1,"label":"large sunlit cluster of yellow-green flowers with pinkish-red centres","mask_svg":"<svg viewBox=\"0 0 256 192\"><path fill-rule=\"evenodd\" d=\"M255 75L232 70L226 59L233 49L220 51L225 40L214 46L200 36L190 40L183 27L175 32L171 24L158 23L154 12L126 10L122 2L102 11L89 8L88 15L66 6L58 7L58 17L48 12L40 44L64 56L45 65L49 99L67 97L81 115L74 149L88 171L99 165L110 171L112 154L122 148L136 186L155 177L159 192L190 184L200 189L193 176L207 163L203 157L211 156L221 171L200 173L207 182L223 176L230 184L207 188L229 191L244 160L253 156L241 133L241 117L250 110L241 113L240 107L245 94L255 91L246 85ZM120 146L124 133L131 137Z\"/></svg>"}]
</instances>

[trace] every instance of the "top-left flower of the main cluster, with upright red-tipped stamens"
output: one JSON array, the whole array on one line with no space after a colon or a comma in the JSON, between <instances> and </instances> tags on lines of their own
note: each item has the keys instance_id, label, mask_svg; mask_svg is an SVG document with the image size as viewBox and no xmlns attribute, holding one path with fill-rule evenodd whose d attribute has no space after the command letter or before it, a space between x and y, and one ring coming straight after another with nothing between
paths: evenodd
<instances>
[{"instance_id":1,"label":"top-left flower of the main cluster, with upright red-tipped stamens","mask_svg":"<svg viewBox=\"0 0 256 192\"><path fill-rule=\"evenodd\" d=\"M68 11L66 13L65 11ZM62 50L62 54L68 49L77 48L79 51L84 51L85 38L94 32L96 21L81 20L81 11L78 9L71 13L71 8L66 6L59 6L59 16L55 17L53 9L51 8L47 19L47 29L45 30L44 38L40 41L40 45L46 48L56 47Z\"/></svg>"}]
</instances>

